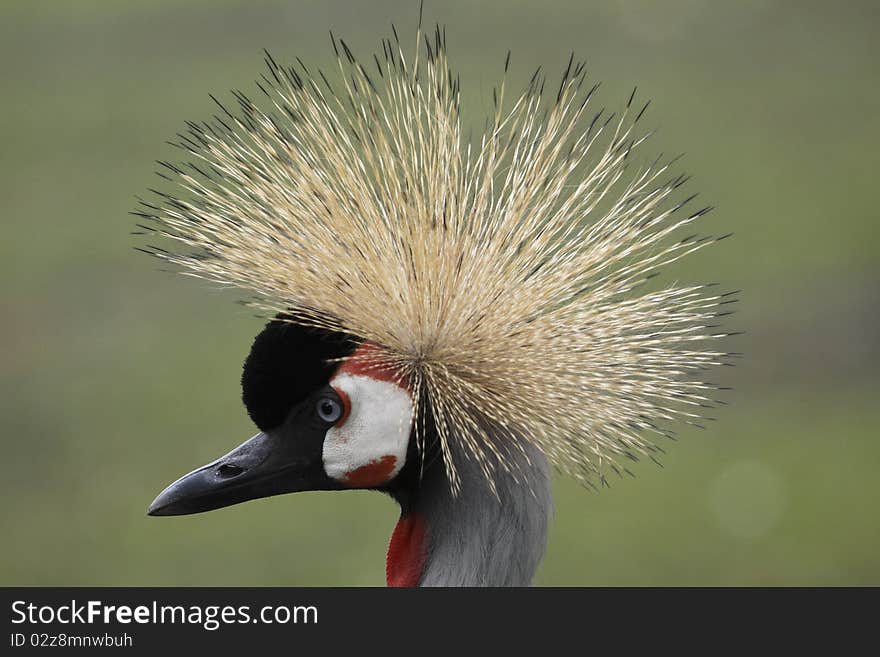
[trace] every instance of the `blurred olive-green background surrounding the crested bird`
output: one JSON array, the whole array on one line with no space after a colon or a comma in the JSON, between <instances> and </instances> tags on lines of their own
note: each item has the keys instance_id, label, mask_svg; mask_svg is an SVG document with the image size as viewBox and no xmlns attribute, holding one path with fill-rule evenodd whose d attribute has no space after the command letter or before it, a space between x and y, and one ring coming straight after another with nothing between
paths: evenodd
<instances>
[{"instance_id":1,"label":"blurred olive-green background surrounding the crested bird","mask_svg":"<svg viewBox=\"0 0 880 657\"><path fill-rule=\"evenodd\" d=\"M209 92L261 49L332 65L417 3L0 5L0 584L379 585L385 497L307 493L148 518L154 495L251 435L239 375L261 320L132 251L134 195ZM743 288L747 357L720 421L664 467L556 484L538 584L880 584L880 12L875 2L429 2L475 122L570 50L616 107L653 99L647 155L685 152L734 239L683 277Z\"/></svg>"}]
</instances>

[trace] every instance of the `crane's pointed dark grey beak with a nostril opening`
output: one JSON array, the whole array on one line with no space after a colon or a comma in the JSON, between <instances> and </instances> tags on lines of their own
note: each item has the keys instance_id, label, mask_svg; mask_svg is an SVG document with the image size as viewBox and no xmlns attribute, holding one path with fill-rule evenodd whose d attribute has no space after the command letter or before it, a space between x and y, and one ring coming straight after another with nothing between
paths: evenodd
<instances>
[{"instance_id":1,"label":"crane's pointed dark grey beak with a nostril opening","mask_svg":"<svg viewBox=\"0 0 880 657\"><path fill-rule=\"evenodd\" d=\"M153 500L147 513L201 513L260 497L334 488L320 459L317 461L299 452L296 441L260 432L168 486Z\"/></svg>"}]
</instances>

